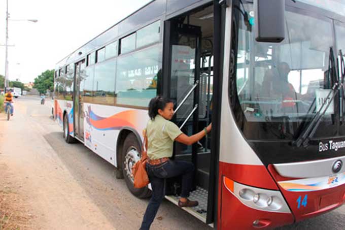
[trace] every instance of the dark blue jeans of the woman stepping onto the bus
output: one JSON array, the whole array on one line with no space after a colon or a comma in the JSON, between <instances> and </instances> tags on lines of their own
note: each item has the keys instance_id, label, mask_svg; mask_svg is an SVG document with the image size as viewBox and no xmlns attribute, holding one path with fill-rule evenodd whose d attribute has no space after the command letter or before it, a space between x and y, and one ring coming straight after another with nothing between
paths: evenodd
<instances>
[{"instance_id":1,"label":"dark blue jeans of the woman stepping onto the bus","mask_svg":"<svg viewBox=\"0 0 345 230\"><path fill-rule=\"evenodd\" d=\"M152 197L147 206L141 230L148 230L157 214L164 197L164 179L182 175L181 197L187 198L192 187L194 165L182 160L168 160L159 165L146 164L147 174L152 186Z\"/></svg>"}]
</instances>

